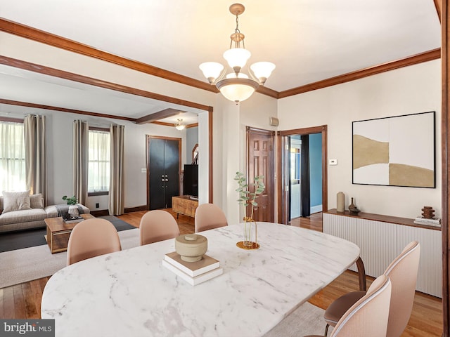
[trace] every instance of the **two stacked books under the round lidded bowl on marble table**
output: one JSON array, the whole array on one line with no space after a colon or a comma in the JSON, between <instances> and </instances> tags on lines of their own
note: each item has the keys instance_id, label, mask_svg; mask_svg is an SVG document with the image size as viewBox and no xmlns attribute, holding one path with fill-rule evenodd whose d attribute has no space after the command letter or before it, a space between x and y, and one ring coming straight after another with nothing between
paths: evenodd
<instances>
[{"instance_id":1,"label":"two stacked books under the round lidded bowl on marble table","mask_svg":"<svg viewBox=\"0 0 450 337\"><path fill-rule=\"evenodd\" d=\"M186 262L174 251L164 256L162 265L193 286L224 273L219 261L207 255L200 261Z\"/></svg>"}]
</instances>

